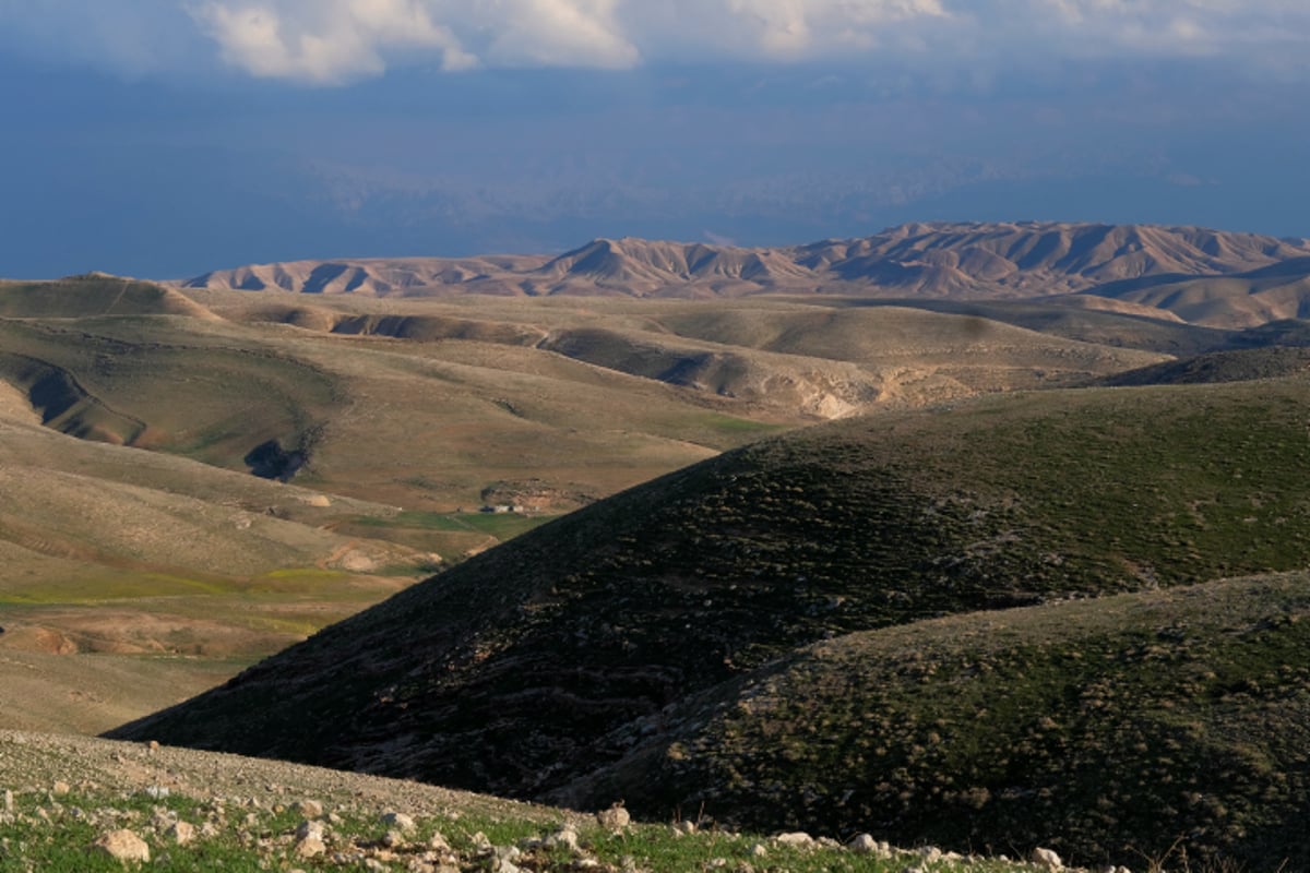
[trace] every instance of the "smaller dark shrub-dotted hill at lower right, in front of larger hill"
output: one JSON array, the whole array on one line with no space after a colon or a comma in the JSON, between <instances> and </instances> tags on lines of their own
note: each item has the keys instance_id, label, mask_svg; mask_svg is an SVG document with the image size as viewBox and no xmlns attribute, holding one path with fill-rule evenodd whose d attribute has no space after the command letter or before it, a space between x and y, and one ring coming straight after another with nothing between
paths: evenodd
<instances>
[{"instance_id":1,"label":"smaller dark shrub-dotted hill at lower right, in front of larger hill","mask_svg":"<svg viewBox=\"0 0 1310 873\"><path fill-rule=\"evenodd\" d=\"M1303 573L852 633L555 798L1094 869L1310 869L1307 647Z\"/></svg>"}]
</instances>

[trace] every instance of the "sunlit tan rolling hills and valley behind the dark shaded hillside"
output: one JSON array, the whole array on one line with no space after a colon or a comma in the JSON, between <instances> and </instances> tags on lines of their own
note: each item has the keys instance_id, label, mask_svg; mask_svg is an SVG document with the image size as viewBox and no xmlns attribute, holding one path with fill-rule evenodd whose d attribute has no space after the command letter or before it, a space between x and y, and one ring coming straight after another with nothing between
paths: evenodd
<instances>
[{"instance_id":1,"label":"sunlit tan rolling hills and valley behind the dark shaded hillside","mask_svg":"<svg viewBox=\"0 0 1310 873\"><path fill-rule=\"evenodd\" d=\"M45 695L66 715L0 708L24 728L39 712L98 730L176 699L144 660L162 696L97 690L128 664L98 657L173 658L198 691L443 563L765 433L1162 360L762 298L288 298L88 275L0 284L0 681L41 696L20 653L86 664ZM105 700L92 720L86 695Z\"/></svg>"}]
</instances>

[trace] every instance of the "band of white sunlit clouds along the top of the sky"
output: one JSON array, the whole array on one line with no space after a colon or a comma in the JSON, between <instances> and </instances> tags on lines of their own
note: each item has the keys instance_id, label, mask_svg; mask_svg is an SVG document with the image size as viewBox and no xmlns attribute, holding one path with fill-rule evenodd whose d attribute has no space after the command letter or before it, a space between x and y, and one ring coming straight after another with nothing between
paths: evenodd
<instances>
[{"instance_id":1,"label":"band of white sunlit clouds along the top of the sky","mask_svg":"<svg viewBox=\"0 0 1310 873\"><path fill-rule=\"evenodd\" d=\"M1310 72L1305 0L0 0L0 45L80 62L148 71L198 38L242 73L318 85L407 64L1208 58Z\"/></svg>"}]
</instances>

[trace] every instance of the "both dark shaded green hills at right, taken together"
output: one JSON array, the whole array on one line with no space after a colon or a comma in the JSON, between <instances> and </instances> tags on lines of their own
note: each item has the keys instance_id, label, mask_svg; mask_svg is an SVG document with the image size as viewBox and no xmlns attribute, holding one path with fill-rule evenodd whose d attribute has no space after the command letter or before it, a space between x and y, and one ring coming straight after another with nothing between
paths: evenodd
<instances>
[{"instance_id":1,"label":"both dark shaded green hills at right, taken together","mask_svg":"<svg viewBox=\"0 0 1310 873\"><path fill-rule=\"evenodd\" d=\"M1296 865L1305 580L1212 580L1310 564L1307 399L1303 377L1041 391L791 432L114 736L651 817Z\"/></svg>"}]
</instances>

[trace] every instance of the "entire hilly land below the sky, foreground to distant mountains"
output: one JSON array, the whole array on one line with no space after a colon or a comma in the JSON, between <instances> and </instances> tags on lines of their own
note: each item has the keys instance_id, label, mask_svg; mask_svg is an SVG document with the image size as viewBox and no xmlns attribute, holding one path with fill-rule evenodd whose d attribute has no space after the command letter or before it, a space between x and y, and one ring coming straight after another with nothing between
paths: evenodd
<instances>
[{"instance_id":1,"label":"entire hilly land below the sky, foreground to distant mountains","mask_svg":"<svg viewBox=\"0 0 1310 873\"><path fill-rule=\"evenodd\" d=\"M3 281L0 869L1310 869L1307 318L1145 225Z\"/></svg>"}]
</instances>

